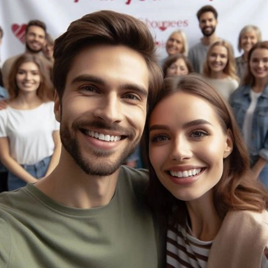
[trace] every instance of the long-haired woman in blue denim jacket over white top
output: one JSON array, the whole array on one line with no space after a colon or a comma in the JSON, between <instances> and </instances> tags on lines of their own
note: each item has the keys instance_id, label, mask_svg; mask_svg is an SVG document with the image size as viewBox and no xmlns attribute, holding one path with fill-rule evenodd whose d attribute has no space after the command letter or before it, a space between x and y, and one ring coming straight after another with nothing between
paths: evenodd
<instances>
[{"instance_id":1,"label":"long-haired woman in blue denim jacket over white top","mask_svg":"<svg viewBox=\"0 0 268 268\"><path fill-rule=\"evenodd\" d=\"M268 189L268 41L249 51L247 74L230 96L230 105L248 145L255 179Z\"/></svg>"}]
</instances>

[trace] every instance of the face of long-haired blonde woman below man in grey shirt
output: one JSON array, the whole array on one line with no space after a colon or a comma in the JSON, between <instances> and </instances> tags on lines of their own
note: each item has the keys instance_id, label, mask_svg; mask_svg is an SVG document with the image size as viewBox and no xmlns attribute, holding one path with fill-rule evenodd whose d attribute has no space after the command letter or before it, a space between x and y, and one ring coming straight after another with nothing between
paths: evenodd
<instances>
[{"instance_id":1,"label":"face of long-haired blonde woman below man in grey shirt","mask_svg":"<svg viewBox=\"0 0 268 268\"><path fill-rule=\"evenodd\" d=\"M223 46L215 46L208 54L207 63L212 72L223 72L228 62L228 51Z\"/></svg>"}]
</instances>

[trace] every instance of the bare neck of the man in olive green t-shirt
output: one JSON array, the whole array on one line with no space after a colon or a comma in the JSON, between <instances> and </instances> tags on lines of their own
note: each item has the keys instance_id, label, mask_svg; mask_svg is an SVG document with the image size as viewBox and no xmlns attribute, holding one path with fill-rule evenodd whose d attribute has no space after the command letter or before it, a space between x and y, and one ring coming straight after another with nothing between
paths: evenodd
<instances>
[{"instance_id":1,"label":"bare neck of the man in olive green t-shirt","mask_svg":"<svg viewBox=\"0 0 268 268\"><path fill-rule=\"evenodd\" d=\"M72 158L62 157L55 170L35 186L54 201L76 208L108 204L114 196L120 169L107 177L84 173Z\"/></svg>"}]
</instances>

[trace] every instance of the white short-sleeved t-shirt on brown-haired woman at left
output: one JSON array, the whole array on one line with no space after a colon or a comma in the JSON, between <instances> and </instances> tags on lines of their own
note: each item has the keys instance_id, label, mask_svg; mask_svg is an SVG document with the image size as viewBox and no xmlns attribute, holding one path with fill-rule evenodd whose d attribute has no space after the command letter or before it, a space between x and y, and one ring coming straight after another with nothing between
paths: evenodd
<instances>
[{"instance_id":1,"label":"white short-sleeved t-shirt on brown-haired woman at left","mask_svg":"<svg viewBox=\"0 0 268 268\"><path fill-rule=\"evenodd\" d=\"M53 154L52 134L60 129L53 109L50 101L31 110L0 111L0 137L8 137L10 155L19 164L33 165Z\"/></svg>"}]
</instances>

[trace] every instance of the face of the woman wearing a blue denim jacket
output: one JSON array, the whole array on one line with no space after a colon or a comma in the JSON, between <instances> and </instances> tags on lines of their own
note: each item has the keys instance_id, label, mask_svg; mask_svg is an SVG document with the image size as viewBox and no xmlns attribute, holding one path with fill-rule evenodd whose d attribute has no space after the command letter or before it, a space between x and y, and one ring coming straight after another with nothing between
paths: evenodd
<instances>
[{"instance_id":1,"label":"face of the woman wearing a blue denim jacket","mask_svg":"<svg viewBox=\"0 0 268 268\"><path fill-rule=\"evenodd\" d=\"M255 49L251 54L249 66L255 78L268 78L268 49Z\"/></svg>"}]
</instances>

